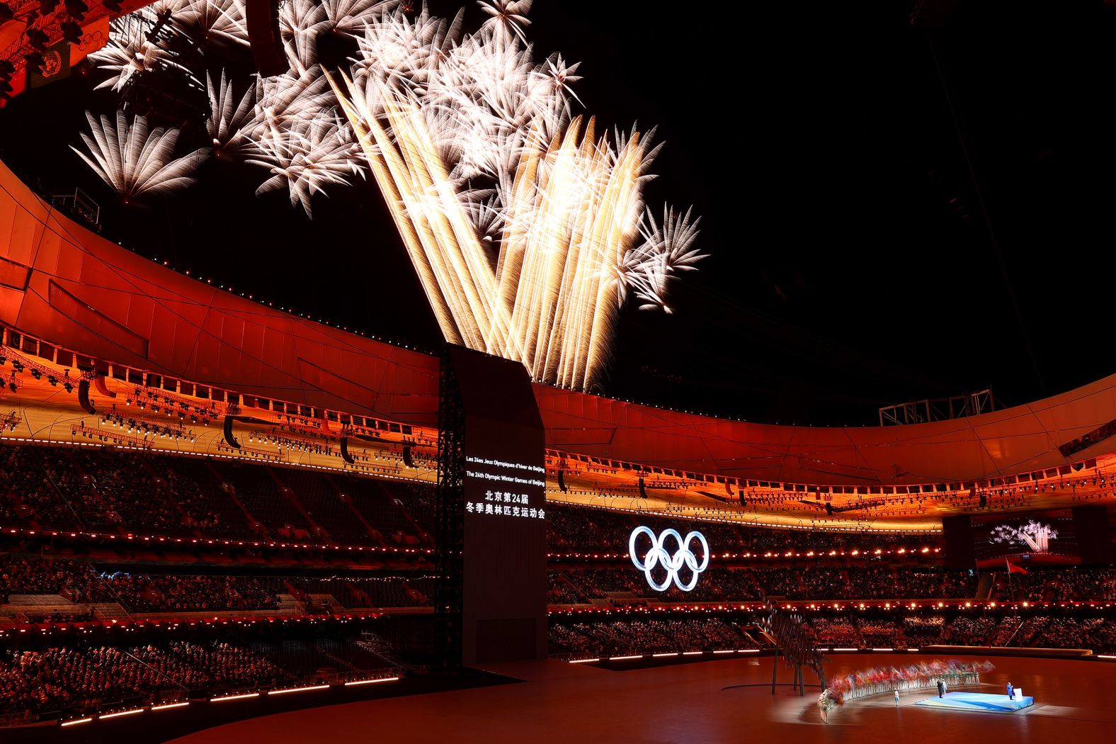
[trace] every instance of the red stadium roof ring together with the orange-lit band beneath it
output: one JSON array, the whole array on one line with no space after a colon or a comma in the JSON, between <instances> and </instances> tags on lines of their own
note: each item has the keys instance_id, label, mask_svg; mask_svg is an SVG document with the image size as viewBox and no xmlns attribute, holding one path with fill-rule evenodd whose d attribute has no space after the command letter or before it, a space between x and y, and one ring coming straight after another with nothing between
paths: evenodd
<instances>
[{"instance_id":1,"label":"red stadium roof ring together with the orange-lit band beneath it","mask_svg":"<svg viewBox=\"0 0 1116 744\"><path fill-rule=\"evenodd\" d=\"M146 433L143 446L170 440L184 452L368 471L389 462L381 475L433 477L437 357L141 258L52 210L2 165L0 184L0 323L6 352L25 371L9 385L6 436L88 442L110 429L112 441L95 441L138 446ZM67 385L76 398L60 394ZM1004 508L1060 505L1070 494L1112 498L1114 385L1116 375L982 416L864 428L757 425L545 385L536 397L552 498L925 530L982 495ZM83 394L96 401L85 412ZM182 425L175 431L163 421L169 407L185 413L170 419ZM219 426L227 417L248 439L235 451ZM353 462L341 439L355 445Z\"/></svg>"}]
</instances>

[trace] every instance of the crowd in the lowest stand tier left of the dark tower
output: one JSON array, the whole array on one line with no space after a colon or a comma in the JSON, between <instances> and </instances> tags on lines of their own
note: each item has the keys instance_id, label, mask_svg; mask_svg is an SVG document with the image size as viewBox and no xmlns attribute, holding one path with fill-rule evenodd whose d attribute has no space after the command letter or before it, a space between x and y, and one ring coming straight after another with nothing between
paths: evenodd
<instances>
[{"instance_id":1,"label":"crowd in the lowest stand tier left of the dark tower","mask_svg":"<svg viewBox=\"0 0 1116 744\"><path fill-rule=\"evenodd\" d=\"M0 723L377 675L410 662L394 637L431 642L420 626L433 627L324 619L9 636L0 638Z\"/></svg>"}]
</instances>

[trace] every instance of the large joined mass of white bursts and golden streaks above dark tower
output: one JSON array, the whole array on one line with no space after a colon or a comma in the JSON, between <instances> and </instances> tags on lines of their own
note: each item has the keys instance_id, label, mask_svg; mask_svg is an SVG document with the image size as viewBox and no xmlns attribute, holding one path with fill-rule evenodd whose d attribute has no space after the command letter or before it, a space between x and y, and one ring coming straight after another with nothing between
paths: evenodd
<instances>
[{"instance_id":1,"label":"large joined mass of white bursts and golden streaks above dark tower","mask_svg":"<svg viewBox=\"0 0 1116 744\"><path fill-rule=\"evenodd\" d=\"M578 64L535 59L531 0L479 4L484 20L466 34L462 11L288 0L290 69L240 97L223 73L215 86L206 78L210 139L268 170L258 193L286 188L307 214L314 194L371 172L446 340L518 360L537 380L591 388L624 302L672 312L671 283L704 257L700 220L646 208L652 133L598 133L575 115ZM162 0L141 12L247 40L242 0ZM326 75L318 44L336 32L357 49L347 70Z\"/></svg>"}]
</instances>

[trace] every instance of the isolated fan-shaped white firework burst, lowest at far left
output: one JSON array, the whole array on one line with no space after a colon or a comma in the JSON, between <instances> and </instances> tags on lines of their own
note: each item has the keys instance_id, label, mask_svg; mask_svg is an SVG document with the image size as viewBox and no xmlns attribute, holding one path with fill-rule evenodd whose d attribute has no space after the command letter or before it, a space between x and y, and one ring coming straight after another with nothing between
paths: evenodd
<instances>
[{"instance_id":1,"label":"isolated fan-shaped white firework burst, lowest at far left","mask_svg":"<svg viewBox=\"0 0 1116 744\"><path fill-rule=\"evenodd\" d=\"M99 120L86 112L92 136L81 134L89 154L70 147L112 187L121 199L169 193L182 189L194 179L191 173L205 160L209 150L200 149L182 158L173 158L179 130L147 128L147 120L136 116L129 125L123 111L116 112L115 124L107 116Z\"/></svg>"}]
</instances>

